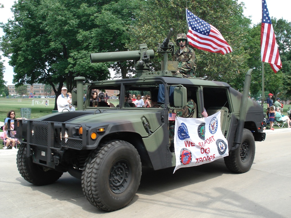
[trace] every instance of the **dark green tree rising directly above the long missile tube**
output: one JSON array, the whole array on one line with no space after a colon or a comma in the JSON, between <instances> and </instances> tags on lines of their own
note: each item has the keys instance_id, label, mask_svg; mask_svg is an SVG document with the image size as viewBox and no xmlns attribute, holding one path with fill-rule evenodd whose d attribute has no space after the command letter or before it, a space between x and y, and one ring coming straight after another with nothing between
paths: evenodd
<instances>
[{"instance_id":1,"label":"dark green tree rising directly above the long missile tube","mask_svg":"<svg viewBox=\"0 0 291 218\"><path fill-rule=\"evenodd\" d=\"M84 44L84 49L94 52L127 51L127 45L132 37L129 29L135 26L136 13L143 2L142 0L104 1L88 23L93 28L80 31L78 34L78 39ZM108 67L117 72L117 77L126 78L128 73L134 71L133 61L118 61L109 64Z\"/></svg>"}]
</instances>

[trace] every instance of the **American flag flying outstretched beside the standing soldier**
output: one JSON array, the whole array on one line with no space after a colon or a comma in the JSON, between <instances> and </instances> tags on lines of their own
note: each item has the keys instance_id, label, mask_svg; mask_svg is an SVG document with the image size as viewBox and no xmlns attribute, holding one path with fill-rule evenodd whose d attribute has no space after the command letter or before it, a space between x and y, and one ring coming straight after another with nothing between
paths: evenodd
<instances>
[{"instance_id":1,"label":"American flag flying outstretched beside the standing soldier","mask_svg":"<svg viewBox=\"0 0 291 218\"><path fill-rule=\"evenodd\" d=\"M188 9L186 9L186 19L189 27L187 38L190 45L197 49L221 54L233 51L217 28L200 19Z\"/></svg>"}]
</instances>

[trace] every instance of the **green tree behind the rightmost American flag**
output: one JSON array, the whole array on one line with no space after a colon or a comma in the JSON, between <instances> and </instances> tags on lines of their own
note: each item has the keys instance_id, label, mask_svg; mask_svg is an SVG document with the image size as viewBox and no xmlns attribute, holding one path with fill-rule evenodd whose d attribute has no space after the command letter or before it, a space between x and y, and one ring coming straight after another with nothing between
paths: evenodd
<instances>
[{"instance_id":1,"label":"green tree behind the rightmost American flag","mask_svg":"<svg viewBox=\"0 0 291 218\"><path fill-rule=\"evenodd\" d=\"M288 90L290 90L289 96L291 97L290 78L291 78L291 65L290 65L290 48L291 48L291 23L288 23L284 19L271 19L274 32L276 35L276 42L279 46L280 58L282 61L282 68L276 74L270 67L269 63L265 63L265 96L266 94L273 93L274 98L277 95L282 95L285 98L288 96ZM245 50L249 53L248 66L253 68L251 94L252 96L258 96L262 94L262 62L260 54L260 30L261 23L253 26L246 34L246 41L244 44ZM287 91L286 91L287 90ZM286 92L285 92L286 91ZM289 97L288 97L289 98Z\"/></svg>"}]
</instances>

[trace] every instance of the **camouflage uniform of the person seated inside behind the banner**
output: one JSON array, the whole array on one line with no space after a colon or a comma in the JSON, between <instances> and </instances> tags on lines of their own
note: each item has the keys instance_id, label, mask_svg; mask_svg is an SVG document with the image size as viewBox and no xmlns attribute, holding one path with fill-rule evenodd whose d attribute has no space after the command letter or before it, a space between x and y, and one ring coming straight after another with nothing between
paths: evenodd
<instances>
[{"instance_id":1,"label":"camouflage uniform of the person seated inside behind the banner","mask_svg":"<svg viewBox=\"0 0 291 218\"><path fill-rule=\"evenodd\" d=\"M175 113L177 117L192 117L195 110L195 104L192 99L188 99L187 105L182 109L173 109L169 110L169 113ZM171 145L174 142L174 134L175 134L175 126L173 123L174 121L171 121L169 124L169 144Z\"/></svg>"}]
</instances>

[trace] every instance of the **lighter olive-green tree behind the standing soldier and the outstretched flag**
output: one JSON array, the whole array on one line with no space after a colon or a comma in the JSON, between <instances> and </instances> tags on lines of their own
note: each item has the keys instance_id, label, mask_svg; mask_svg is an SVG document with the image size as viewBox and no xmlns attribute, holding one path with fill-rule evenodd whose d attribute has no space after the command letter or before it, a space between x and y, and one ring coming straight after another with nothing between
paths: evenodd
<instances>
[{"instance_id":1,"label":"lighter olive-green tree behind the standing soldier and the outstretched flag","mask_svg":"<svg viewBox=\"0 0 291 218\"><path fill-rule=\"evenodd\" d=\"M129 50L140 43L154 48L161 43L171 27L174 32L171 41L178 33L187 33L185 1L144 1L137 11L136 25L129 30L131 42ZM186 6L186 5L185 5ZM242 4L232 0L191 1L187 8L195 15L215 26L233 48L233 52L221 55L194 49L196 53L196 76L208 76L212 80L225 81L234 88L242 90L244 75L248 70L248 53L244 50L244 35L248 32L250 19L243 16ZM176 48L177 49L177 48ZM159 62L163 57L155 54L153 69L160 70Z\"/></svg>"}]
</instances>

